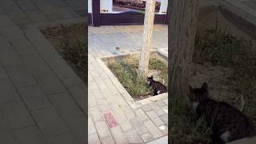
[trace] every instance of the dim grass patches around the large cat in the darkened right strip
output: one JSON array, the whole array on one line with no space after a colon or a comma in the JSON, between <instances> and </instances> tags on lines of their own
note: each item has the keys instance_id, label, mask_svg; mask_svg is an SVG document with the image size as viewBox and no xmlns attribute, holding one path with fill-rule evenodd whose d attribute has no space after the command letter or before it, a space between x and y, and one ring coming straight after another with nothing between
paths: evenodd
<instances>
[{"instance_id":1,"label":"dim grass patches around the large cat in the darkened right strip","mask_svg":"<svg viewBox=\"0 0 256 144\"><path fill-rule=\"evenodd\" d=\"M255 50L255 49L254 49ZM193 61L210 62L234 70L235 88L243 94L243 112L256 120L256 54L251 42L238 39L218 25L196 35ZM188 114L186 98L170 99L170 137L177 143L209 143L210 129L201 120Z\"/></svg>"}]
</instances>

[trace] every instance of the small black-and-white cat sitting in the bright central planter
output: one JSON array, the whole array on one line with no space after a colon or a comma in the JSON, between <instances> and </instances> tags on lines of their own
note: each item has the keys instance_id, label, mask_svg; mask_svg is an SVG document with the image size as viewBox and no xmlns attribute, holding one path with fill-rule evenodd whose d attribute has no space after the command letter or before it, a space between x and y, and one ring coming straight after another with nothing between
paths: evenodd
<instances>
[{"instance_id":1,"label":"small black-and-white cat sitting in the bright central planter","mask_svg":"<svg viewBox=\"0 0 256 144\"><path fill-rule=\"evenodd\" d=\"M154 95L166 93L167 89L161 82L156 82L153 79L153 75L151 77L147 77L147 83L149 86L152 86L154 90Z\"/></svg>"}]
</instances>

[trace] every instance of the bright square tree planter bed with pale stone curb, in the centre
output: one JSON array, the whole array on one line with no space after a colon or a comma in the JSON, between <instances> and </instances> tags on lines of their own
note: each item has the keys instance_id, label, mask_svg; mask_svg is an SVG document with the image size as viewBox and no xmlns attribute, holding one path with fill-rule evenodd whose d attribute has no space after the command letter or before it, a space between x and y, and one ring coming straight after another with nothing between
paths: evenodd
<instances>
[{"instance_id":1,"label":"bright square tree planter bed with pale stone curb, in the centre","mask_svg":"<svg viewBox=\"0 0 256 144\"><path fill-rule=\"evenodd\" d=\"M137 82L136 78L138 77L136 68L138 66L139 58L140 52L132 54L111 55L99 59L100 63L102 63L104 70L106 71L106 74L108 74L109 78L114 83L114 85L118 87L119 92L126 99L126 102L128 102L132 107L137 107L144 105L146 103L155 102L162 98L167 98L168 96L167 93L153 96L153 94L150 93L150 90L145 90L146 88L148 88L148 86L146 86L146 79ZM148 70L148 76L153 75L154 80L162 82L165 86L167 86L168 83L166 60L167 58L163 54L160 54L157 51L152 51L150 54L150 69ZM113 68L114 66L116 69ZM124 71L118 71L121 69L124 70L126 74L122 74L122 72ZM131 73L130 69L132 71ZM130 80L129 78L131 78L132 80ZM134 83L129 84L129 82ZM133 84L137 86L133 86ZM138 87L142 87L142 93L140 93L140 90L137 90ZM145 91L146 93L143 94L143 92Z\"/></svg>"}]
</instances>

